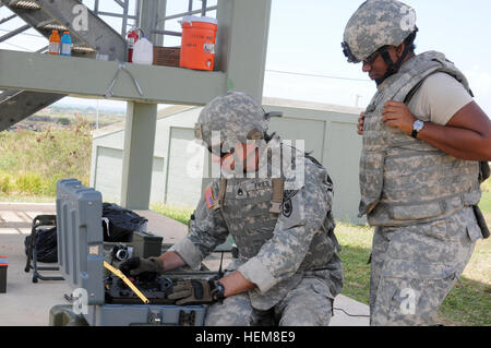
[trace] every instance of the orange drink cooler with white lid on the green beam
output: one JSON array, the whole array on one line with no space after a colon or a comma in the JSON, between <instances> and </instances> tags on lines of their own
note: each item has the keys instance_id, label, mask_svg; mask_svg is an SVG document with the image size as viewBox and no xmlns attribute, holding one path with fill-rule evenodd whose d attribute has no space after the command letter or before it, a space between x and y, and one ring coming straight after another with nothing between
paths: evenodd
<instances>
[{"instance_id":1,"label":"orange drink cooler with white lid on the green beam","mask_svg":"<svg viewBox=\"0 0 491 348\"><path fill-rule=\"evenodd\" d=\"M217 21L188 15L182 19L181 68L213 70Z\"/></svg>"}]
</instances>

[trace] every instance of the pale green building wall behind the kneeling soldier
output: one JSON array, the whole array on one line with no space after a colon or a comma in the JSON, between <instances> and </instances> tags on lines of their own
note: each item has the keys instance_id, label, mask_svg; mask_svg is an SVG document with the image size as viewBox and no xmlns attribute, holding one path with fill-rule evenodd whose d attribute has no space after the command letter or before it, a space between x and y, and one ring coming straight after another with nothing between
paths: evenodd
<instances>
[{"instance_id":1,"label":"pale green building wall behind the kneeling soldier","mask_svg":"<svg viewBox=\"0 0 491 348\"><path fill-rule=\"evenodd\" d=\"M363 223L359 203L358 161L361 137L356 133L360 110L332 105L264 98L266 111L283 111L271 120L270 132L296 147L304 146L327 168L334 181L336 218ZM193 127L201 107L173 106L159 111L157 120L151 202L194 207L211 181L205 149L194 141ZM118 202L121 190L123 125L94 132L91 184L103 199Z\"/></svg>"}]
</instances>

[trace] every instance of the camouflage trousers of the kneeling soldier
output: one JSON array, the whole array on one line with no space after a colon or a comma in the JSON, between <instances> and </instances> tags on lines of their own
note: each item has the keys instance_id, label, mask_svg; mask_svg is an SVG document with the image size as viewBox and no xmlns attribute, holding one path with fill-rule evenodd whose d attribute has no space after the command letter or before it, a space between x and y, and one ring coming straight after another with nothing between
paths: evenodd
<instances>
[{"instance_id":1,"label":"camouflage trousers of the kneeling soldier","mask_svg":"<svg viewBox=\"0 0 491 348\"><path fill-rule=\"evenodd\" d=\"M228 297L223 303L208 308L206 326L327 326L333 311L333 299L316 291L314 277L302 281L268 311L251 305L247 292ZM322 280L324 281L324 280Z\"/></svg>"}]
</instances>

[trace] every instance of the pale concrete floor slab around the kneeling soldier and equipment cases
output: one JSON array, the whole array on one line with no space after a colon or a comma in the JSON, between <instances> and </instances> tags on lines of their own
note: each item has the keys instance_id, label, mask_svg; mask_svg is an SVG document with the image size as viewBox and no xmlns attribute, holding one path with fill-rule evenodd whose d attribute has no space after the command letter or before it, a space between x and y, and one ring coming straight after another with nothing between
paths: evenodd
<instances>
[{"instance_id":1,"label":"pale concrete floor slab around the kneeling soldier and equipment cases","mask_svg":"<svg viewBox=\"0 0 491 348\"><path fill-rule=\"evenodd\" d=\"M4 214L4 213L8 214ZM9 257L7 292L0 293L0 326L47 326L49 310L56 304L67 304L63 295L72 288L64 280L32 281L33 272L24 272L26 256L24 239L31 233L33 217L55 214L53 204L0 203L0 255ZM164 242L175 243L185 236L187 226L151 211L135 211L148 218L147 231L164 237ZM228 255L228 254L225 254ZM220 255L211 255L205 265L218 269ZM224 257L224 267L229 256ZM53 266L56 264L41 264ZM58 276L59 272L39 271L45 276ZM339 295L334 301L331 326L368 326L369 307Z\"/></svg>"}]
</instances>

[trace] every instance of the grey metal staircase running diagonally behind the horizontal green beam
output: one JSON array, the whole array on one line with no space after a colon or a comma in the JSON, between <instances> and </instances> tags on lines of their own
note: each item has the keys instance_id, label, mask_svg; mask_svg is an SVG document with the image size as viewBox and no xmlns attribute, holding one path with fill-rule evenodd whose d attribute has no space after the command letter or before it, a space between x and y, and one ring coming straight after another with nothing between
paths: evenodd
<instances>
[{"instance_id":1,"label":"grey metal staircase running diagonally behind the horizontal green beam","mask_svg":"<svg viewBox=\"0 0 491 348\"><path fill-rule=\"evenodd\" d=\"M0 36L0 41L31 27L49 39L53 29L70 31L72 56L95 58L107 55L109 60L125 61L125 41L111 26L94 14L80 0L0 0L27 24ZM39 50L43 51L44 49ZM0 94L0 131L65 97L63 94L31 91L4 91Z\"/></svg>"}]
</instances>

